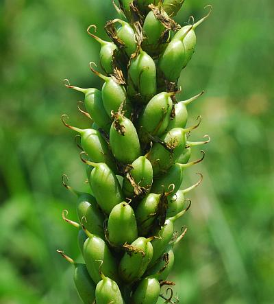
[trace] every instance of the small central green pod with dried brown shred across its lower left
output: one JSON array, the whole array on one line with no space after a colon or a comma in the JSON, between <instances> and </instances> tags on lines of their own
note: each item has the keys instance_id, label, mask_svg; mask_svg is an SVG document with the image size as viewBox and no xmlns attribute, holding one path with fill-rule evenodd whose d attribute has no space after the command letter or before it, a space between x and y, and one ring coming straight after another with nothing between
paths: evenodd
<instances>
[{"instance_id":1,"label":"small central green pod with dried brown shred across its lower left","mask_svg":"<svg viewBox=\"0 0 274 304\"><path fill-rule=\"evenodd\" d=\"M149 191L153 180L151 162L145 156L139 156L138 159L132 163L132 167L133 169L130 170L129 173L132 175L132 178L134 178L135 183ZM123 179L122 189L127 198L134 197L134 187L126 177Z\"/></svg>"}]
</instances>

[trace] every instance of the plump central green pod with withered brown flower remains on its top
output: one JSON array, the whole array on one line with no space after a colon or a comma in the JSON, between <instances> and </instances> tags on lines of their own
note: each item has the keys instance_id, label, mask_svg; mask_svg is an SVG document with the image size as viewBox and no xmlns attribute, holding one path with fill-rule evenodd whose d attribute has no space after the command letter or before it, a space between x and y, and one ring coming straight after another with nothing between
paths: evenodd
<instances>
[{"instance_id":1,"label":"plump central green pod with withered brown flower remains on its top","mask_svg":"<svg viewBox=\"0 0 274 304\"><path fill-rule=\"evenodd\" d=\"M124 130L121 135L116 129L116 123ZM130 164L141 154L140 142L134 124L127 117L117 114L110 128L110 147L117 161Z\"/></svg>"}]
</instances>

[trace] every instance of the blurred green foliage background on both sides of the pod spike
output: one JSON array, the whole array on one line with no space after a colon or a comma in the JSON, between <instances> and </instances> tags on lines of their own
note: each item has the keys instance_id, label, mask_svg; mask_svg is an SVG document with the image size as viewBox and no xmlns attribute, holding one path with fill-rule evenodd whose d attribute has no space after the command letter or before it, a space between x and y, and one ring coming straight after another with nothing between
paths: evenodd
<instances>
[{"instance_id":1,"label":"blurred green foliage background on both sides of the pod spike","mask_svg":"<svg viewBox=\"0 0 274 304\"><path fill-rule=\"evenodd\" d=\"M188 233L176 248L171 279L180 303L274 302L274 5L271 0L210 0L213 12L197 28L197 49L180 78L182 99L206 93L189 106L203 121L206 159L188 170L190 212L178 223ZM177 21L199 19L208 1L187 0ZM77 110L81 93L62 80L99 88L88 69L99 45L86 34L116 18L111 1L2 0L0 5L0 303L80 303L73 267L57 253L79 258L75 198L61 184L69 175L87 189L73 132L60 122L88 126ZM194 158L199 156L199 148ZM163 302L163 301L162 301ZM162 303L161 302L161 303Z\"/></svg>"}]
</instances>

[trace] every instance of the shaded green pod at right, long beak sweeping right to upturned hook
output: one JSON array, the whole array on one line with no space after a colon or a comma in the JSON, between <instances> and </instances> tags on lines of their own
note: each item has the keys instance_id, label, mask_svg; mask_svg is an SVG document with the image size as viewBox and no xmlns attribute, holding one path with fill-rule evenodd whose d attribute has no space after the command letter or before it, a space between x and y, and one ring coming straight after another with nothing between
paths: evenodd
<instances>
[{"instance_id":1,"label":"shaded green pod at right, long beak sweeping right to upturned hook","mask_svg":"<svg viewBox=\"0 0 274 304\"><path fill-rule=\"evenodd\" d=\"M153 179L153 184L151 187L151 191L155 194L161 194L164 189L168 189L170 185L175 185L173 191L177 192L179 187L182 184L183 178L184 178L184 169L187 167L190 167L192 165L195 165L199 163L200 161L203 161L203 158L205 156L205 152L201 151L203 156L201 159L197 161L192 161L190 163L182 164L182 163L175 163L171 166L169 171L164 174L163 176L160 176L158 178Z\"/></svg>"}]
</instances>

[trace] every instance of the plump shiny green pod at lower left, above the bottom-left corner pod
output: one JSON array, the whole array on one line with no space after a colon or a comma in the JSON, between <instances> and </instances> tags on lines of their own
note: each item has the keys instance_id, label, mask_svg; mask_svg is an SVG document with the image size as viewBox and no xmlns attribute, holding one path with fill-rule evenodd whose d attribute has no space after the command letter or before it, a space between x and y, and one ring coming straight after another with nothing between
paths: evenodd
<instances>
[{"instance_id":1,"label":"plump shiny green pod at lower left, above the bottom-left corner pod","mask_svg":"<svg viewBox=\"0 0 274 304\"><path fill-rule=\"evenodd\" d=\"M96 284L101 281L99 270L111 279L119 281L116 260L101 237L93 234L88 235L88 239L84 243L83 257L88 273Z\"/></svg>"}]
</instances>

